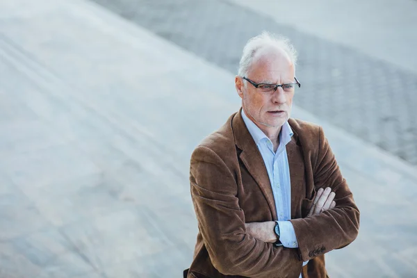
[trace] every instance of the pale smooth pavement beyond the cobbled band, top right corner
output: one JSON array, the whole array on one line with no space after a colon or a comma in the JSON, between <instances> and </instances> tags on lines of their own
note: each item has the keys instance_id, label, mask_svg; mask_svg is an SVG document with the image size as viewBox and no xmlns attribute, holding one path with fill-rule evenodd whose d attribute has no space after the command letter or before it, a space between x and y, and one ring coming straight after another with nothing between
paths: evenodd
<instances>
[{"instance_id":1,"label":"pale smooth pavement beyond the cobbled band, top right corner","mask_svg":"<svg viewBox=\"0 0 417 278\"><path fill-rule=\"evenodd\" d=\"M415 0L227 1L417 74Z\"/></svg>"}]
</instances>

